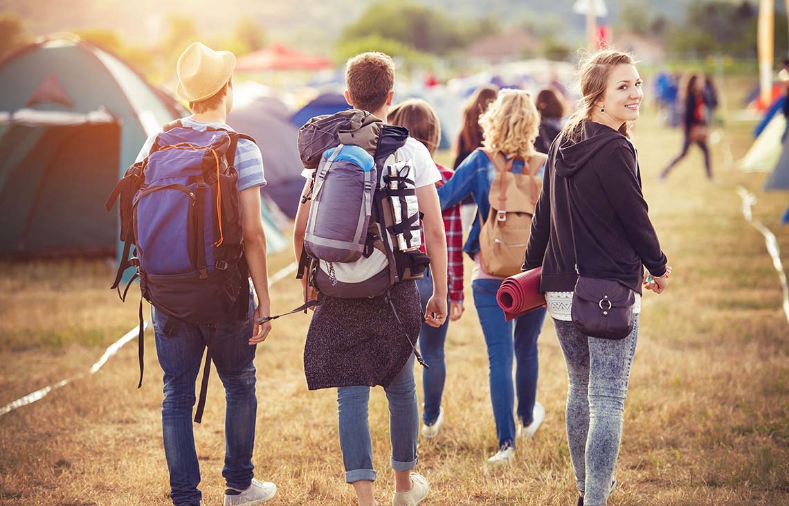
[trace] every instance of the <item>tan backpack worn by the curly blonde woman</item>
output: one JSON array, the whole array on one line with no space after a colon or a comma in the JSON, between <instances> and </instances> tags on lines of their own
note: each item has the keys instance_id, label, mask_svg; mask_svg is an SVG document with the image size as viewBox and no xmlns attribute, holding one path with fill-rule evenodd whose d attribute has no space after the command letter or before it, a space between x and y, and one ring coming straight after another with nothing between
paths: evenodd
<instances>
[{"instance_id":1,"label":"tan backpack worn by the curly blonde woman","mask_svg":"<svg viewBox=\"0 0 789 506\"><path fill-rule=\"evenodd\" d=\"M488 193L490 212L480 233L481 266L489 275L506 278L521 272L542 180L532 173L529 160L525 160L521 174L514 174L514 159L501 167L495 155L483 152L496 174Z\"/></svg>"}]
</instances>

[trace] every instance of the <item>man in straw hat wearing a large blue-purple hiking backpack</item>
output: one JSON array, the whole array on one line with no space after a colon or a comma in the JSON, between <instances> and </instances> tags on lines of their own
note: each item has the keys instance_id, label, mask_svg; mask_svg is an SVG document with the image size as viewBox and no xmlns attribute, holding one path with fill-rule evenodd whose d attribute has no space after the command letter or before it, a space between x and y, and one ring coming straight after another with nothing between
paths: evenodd
<instances>
[{"instance_id":1,"label":"man in straw hat wearing a large blue-purple hiking backpack","mask_svg":"<svg viewBox=\"0 0 789 506\"><path fill-rule=\"evenodd\" d=\"M276 493L273 483L252 478L257 410L252 360L256 344L271 332L260 217L266 180L260 149L226 124L235 62L229 51L202 43L186 48L178 58L178 95L189 101L193 114L148 138L108 201L109 207L120 198L126 242L114 287L125 268L136 267L140 290L151 302L164 371L162 432L175 506L201 504L192 411L204 350L195 422L202 416L213 362L226 393L225 506L260 504ZM133 257L127 259L132 244ZM142 350L140 331L140 381Z\"/></svg>"}]
</instances>

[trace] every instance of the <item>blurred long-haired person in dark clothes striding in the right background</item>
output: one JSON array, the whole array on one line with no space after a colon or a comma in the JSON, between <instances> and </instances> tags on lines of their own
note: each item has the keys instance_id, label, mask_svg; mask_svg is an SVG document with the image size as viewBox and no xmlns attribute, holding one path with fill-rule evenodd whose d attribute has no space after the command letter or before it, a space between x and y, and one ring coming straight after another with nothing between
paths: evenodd
<instances>
[{"instance_id":1,"label":"blurred long-haired person in dark clothes striding in the right background","mask_svg":"<svg viewBox=\"0 0 789 506\"><path fill-rule=\"evenodd\" d=\"M690 144L697 144L704 153L704 166L707 171L707 178L712 179L712 167L709 162L709 146L707 145L709 137L709 127L707 123L707 114L705 113L704 101L704 74L687 72L682 77L682 84L679 87L679 100L685 105L685 112L682 119L683 131L685 133L684 140L682 141L682 152L679 153L675 159L668 164L668 166L660 173L660 179L664 180L668 177L671 169L679 163L679 161L688 154Z\"/></svg>"}]
</instances>

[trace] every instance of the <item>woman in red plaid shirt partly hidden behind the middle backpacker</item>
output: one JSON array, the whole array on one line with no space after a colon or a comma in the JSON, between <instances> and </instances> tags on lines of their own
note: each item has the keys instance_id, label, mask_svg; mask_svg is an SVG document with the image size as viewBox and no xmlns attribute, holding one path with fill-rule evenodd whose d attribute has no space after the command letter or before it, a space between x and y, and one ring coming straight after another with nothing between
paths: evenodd
<instances>
[{"instance_id":1,"label":"woman in red plaid shirt partly hidden behind the middle backpacker","mask_svg":"<svg viewBox=\"0 0 789 506\"><path fill-rule=\"evenodd\" d=\"M441 139L441 125L436 111L422 99L409 99L398 103L389 111L387 121L390 125L404 126L409 136L424 144L431 156L436 156ZM454 174L445 167L436 164L444 183ZM447 232L447 285L449 287L449 319L440 327L422 324L419 332L419 349L430 369L422 370L422 386L424 388L424 410L422 412L422 437L431 439L438 436L444 421L444 410L441 407L444 381L447 378L447 365L444 361L444 342L447 339L449 320L457 321L463 314L463 234L460 223L460 205L446 208L442 212L444 229ZM424 241L423 241L424 244ZM430 275L417 280L422 310L426 310L428 300L433 293L433 279Z\"/></svg>"}]
</instances>

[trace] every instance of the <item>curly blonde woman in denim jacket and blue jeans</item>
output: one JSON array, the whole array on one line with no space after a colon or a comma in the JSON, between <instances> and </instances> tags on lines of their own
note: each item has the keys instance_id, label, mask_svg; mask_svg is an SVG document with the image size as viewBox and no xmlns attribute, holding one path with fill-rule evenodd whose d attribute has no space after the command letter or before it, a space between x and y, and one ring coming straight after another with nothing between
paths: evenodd
<instances>
[{"instance_id":1,"label":"curly blonde woman in denim jacket and blue jeans","mask_svg":"<svg viewBox=\"0 0 789 506\"><path fill-rule=\"evenodd\" d=\"M544 408L536 400L537 337L545 319L545 309L536 309L514 321L505 320L495 298L504 278L484 272L480 256L481 227L491 208L489 193L499 170L496 166L501 167L511 161L510 170L515 174L529 171L541 177L540 167L546 156L534 150L539 124L540 114L529 93L502 90L480 118L484 150L472 152L454 176L439 188L442 208L451 208L469 195L473 196L479 208L464 249L474 260L471 276L474 306L488 347L488 376L498 438L498 452L488 459L490 463L511 459L517 435L532 437L545 417ZM516 363L514 384L513 354ZM517 427L513 416L516 392Z\"/></svg>"}]
</instances>

